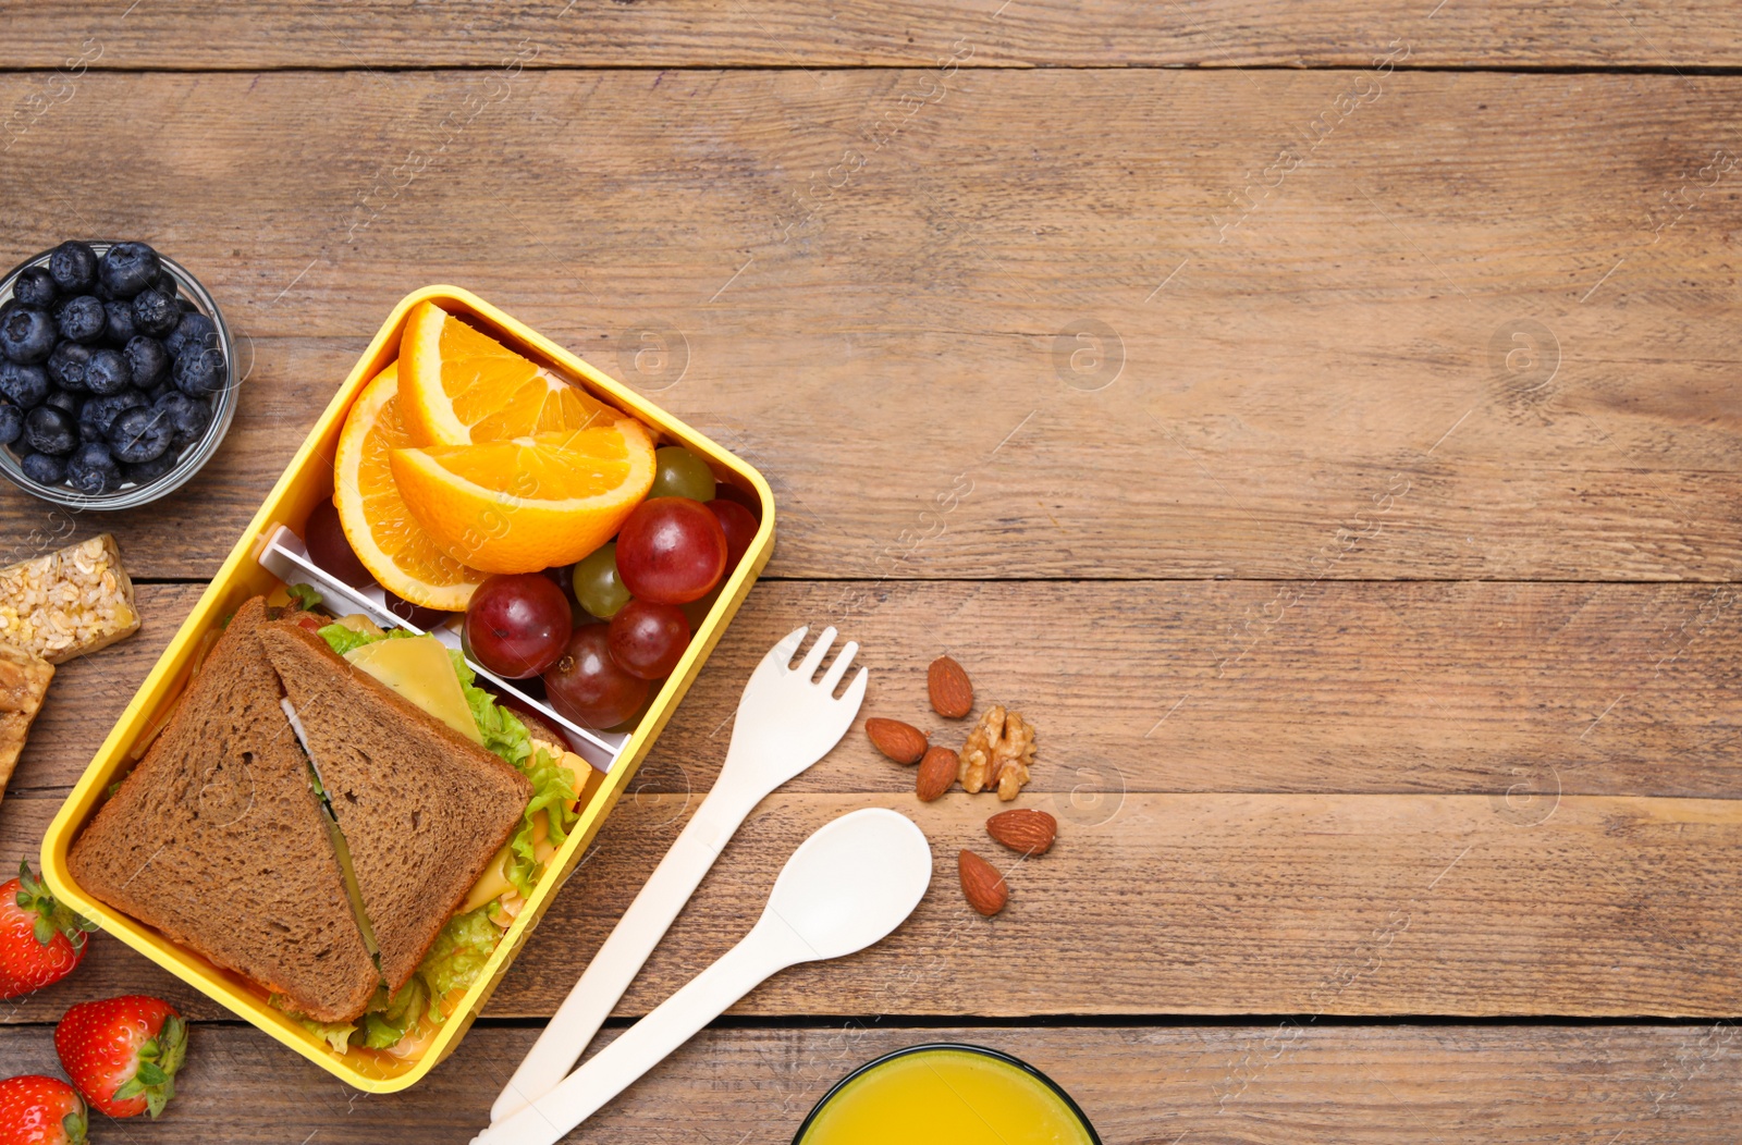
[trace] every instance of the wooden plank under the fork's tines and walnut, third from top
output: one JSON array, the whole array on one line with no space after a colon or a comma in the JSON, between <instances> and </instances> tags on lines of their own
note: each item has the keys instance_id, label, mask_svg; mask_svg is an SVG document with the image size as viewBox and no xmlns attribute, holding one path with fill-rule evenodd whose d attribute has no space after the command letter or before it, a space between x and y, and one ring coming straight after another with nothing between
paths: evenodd
<instances>
[{"instance_id":1,"label":"wooden plank under the fork's tines and walnut, third from top","mask_svg":"<svg viewBox=\"0 0 1742 1145\"><path fill-rule=\"evenodd\" d=\"M57 800L193 607L141 585L143 630L61 668L0 804ZM1035 720L1031 793L1437 792L1742 795L1742 593L1712 585L763 581L636 778L706 792L756 661L801 623L840 625L866 706L793 792L913 790L864 719L934 715L951 653L981 706ZM1010 633L1021 633L1012 656Z\"/></svg>"}]
</instances>

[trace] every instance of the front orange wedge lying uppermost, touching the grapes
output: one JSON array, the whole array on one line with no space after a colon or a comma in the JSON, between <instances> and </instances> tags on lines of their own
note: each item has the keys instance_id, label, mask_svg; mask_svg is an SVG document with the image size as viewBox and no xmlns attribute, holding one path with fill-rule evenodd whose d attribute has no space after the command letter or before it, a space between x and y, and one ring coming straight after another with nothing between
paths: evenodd
<instances>
[{"instance_id":1,"label":"front orange wedge lying uppermost, touching the grapes","mask_svg":"<svg viewBox=\"0 0 1742 1145\"><path fill-rule=\"evenodd\" d=\"M392 451L411 515L451 559L537 572L604 545L653 485L653 439L632 418L568 433Z\"/></svg>"}]
</instances>

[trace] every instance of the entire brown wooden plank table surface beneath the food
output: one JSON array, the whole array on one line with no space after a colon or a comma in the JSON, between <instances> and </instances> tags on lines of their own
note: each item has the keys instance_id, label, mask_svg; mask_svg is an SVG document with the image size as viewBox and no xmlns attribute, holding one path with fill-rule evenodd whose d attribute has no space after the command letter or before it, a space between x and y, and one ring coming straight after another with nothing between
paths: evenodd
<instances>
[{"instance_id":1,"label":"entire brown wooden plank table surface beneath the food","mask_svg":"<svg viewBox=\"0 0 1742 1145\"><path fill-rule=\"evenodd\" d=\"M1040 729L1052 854L974 915L986 797L857 731L620 1006L817 823L939 877L589 1124L780 1142L965 1039L1110 1143L1730 1142L1742 1114L1742 7L1538 0L14 5L0 249L145 237L244 334L202 479L111 529L145 628L66 666L40 834L387 310L453 282L758 465L768 574L472 1030L361 1096L98 938L19 999L199 1018L129 1142L463 1142L712 780L796 623L925 724L951 653ZM52 527L0 494L0 536ZM958 734L958 733L956 733Z\"/></svg>"}]
</instances>

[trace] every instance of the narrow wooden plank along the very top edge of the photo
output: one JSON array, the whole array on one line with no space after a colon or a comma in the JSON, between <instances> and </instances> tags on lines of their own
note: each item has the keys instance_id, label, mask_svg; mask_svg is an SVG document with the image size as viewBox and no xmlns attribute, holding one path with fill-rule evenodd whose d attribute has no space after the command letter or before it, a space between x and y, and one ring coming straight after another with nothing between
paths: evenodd
<instances>
[{"instance_id":1,"label":"narrow wooden plank along the very top edge of the photo","mask_svg":"<svg viewBox=\"0 0 1742 1145\"><path fill-rule=\"evenodd\" d=\"M916 0L441 7L159 0L94 10L24 5L0 66L56 68L98 44L101 68L934 66L958 44L991 66L1366 66L1397 40L1427 66L1742 64L1732 5L1399 5L1334 0Z\"/></svg>"}]
</instances>

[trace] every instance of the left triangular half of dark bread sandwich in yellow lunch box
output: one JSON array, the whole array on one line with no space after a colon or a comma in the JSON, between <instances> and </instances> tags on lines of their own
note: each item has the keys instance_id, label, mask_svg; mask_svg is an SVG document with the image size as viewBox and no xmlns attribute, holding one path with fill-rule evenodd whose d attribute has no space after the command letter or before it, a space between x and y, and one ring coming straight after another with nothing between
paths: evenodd
<instances>
[{"instance_id":1,"label":"left triangular half of dark bread sandwich in yellow lunch box","mask_svg":"<svg viewBox=\"0 0 1742 1145\"><path fill-rule=\"evenodd\" d=\"M260 644L265 600L237 609L145 760L73 842L73 879L289 999L352 1021L380 985L352 915L308 762Z\"/></svg>"}]
</instances>

